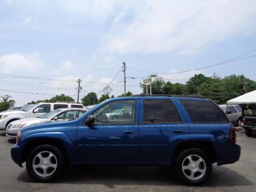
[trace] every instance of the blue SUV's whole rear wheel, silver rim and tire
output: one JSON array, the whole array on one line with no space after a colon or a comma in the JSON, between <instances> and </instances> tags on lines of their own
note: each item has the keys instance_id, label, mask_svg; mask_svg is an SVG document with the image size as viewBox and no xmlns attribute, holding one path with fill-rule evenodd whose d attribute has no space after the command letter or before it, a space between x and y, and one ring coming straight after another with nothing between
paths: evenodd
<instances>
[{"instance_id":1,"label":"blue SUV's whole rear wheel, silver rim and tire","mask_svg":"<svg viewBox=\"0 0 256 192\"><path fill-rule=\"evenodd\" d=\"M178 155L174 162L174 168L183 182L196 185L209 178L212 165L202 150L190 148Z\"/></svg>"}]
</instances>

